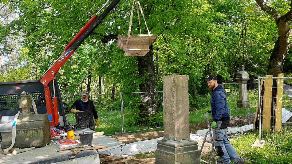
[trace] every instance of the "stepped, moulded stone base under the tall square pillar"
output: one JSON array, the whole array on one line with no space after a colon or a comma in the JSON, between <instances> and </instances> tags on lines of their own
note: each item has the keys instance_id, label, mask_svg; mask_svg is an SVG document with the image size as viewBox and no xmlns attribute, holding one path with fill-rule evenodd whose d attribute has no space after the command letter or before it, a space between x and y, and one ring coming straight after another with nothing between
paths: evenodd
<instances>
[{"instance_id":1,"label":"stepped, moulded stone base under the tall square pillar","mask_svg":"<svg viewBox=\"0 0 292 164\"><path fill-rule=\"evenodd\" d=\"M157 141L156 164L200 164L198 143L191 139Z\"/></svg>"}]
</instances>

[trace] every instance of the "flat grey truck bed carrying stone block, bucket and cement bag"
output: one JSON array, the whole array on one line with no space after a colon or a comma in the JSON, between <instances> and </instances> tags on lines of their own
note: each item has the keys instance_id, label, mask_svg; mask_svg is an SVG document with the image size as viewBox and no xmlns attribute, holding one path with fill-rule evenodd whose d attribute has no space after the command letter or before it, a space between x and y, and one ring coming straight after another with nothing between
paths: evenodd
<instances>
[{"instance_id":1,"label":"flat grey truck bed carrying stone block, bucket and cement bag","mask_svg":"<svg viewBox=\"0 0 292 164\"><path fill-rule=\"evenodd\" d=\"M75 133L81 133L83 131L91 131L87 128L77 129ZM25 142L25 141L24 141ZM0 154L1 164L47 164L47 163L93 163L99 164L99 154L103 152L120 147L123 152L123 146L125 143L119 142L115 139L109 138L105 135L93 136L92 146L103 146L108 148L99 150L82 150L75 156L71 156L70 150L59 151L55 141L52 141L48 145L34 150L26 151L19 154Z\"/></svg>"}]
</instances>

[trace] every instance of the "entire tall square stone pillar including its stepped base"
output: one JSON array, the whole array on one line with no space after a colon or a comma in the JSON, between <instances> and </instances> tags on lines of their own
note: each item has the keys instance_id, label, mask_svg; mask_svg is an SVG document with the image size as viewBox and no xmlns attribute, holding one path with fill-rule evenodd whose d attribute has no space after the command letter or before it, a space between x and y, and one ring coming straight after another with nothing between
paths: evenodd
<instances>
[{"instance_id":1,"label":"entire tall square stone pillar including its stepped base","mask_svg":"<svg viewBox=\"0 0 292 164\"><path fill-rule=\"evenodd\" d=\"M164 139L157 142L156 164L199 164L200 151L189 134L188 76L163 80Z\"/></svg>"}]
</instances>

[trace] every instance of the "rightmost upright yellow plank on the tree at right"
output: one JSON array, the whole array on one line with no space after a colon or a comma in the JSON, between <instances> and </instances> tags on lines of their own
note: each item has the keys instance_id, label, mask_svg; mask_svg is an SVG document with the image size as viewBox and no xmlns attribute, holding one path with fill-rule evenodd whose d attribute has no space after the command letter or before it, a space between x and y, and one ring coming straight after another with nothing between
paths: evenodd
<instances>
[{"instance_id":1,"label":"rightmost upright yellow plank on the tree at right","mask_svg":"<svg viewBox=\"0 0 292 164\"><path fill-rule=\"evenodd\" d=\"M284 77L283 73L278 74L278 77ZM277 102L276 102L276 121L275 131L281 131L282 128L282 102L283 102L283 79L277 80Z\"/></svg>"}]
</instances>

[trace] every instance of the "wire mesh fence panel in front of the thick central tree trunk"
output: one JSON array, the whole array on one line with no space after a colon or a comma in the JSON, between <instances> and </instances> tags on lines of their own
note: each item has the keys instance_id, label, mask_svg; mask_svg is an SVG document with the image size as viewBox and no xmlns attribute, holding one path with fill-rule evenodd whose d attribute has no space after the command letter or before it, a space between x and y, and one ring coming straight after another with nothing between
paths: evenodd
<instances>
[{"instance_id":1,"label":"wire mesh fence panel in front of the thick central tree trunk","mask_svg":"<svg viewBox=\"0 0 292 164\"><path fill-rule=\"evenodd\" d=\"M163 127L163 92L122 93L123 131Z\"/></svg>"}]
</instances>

